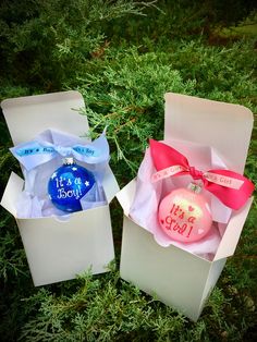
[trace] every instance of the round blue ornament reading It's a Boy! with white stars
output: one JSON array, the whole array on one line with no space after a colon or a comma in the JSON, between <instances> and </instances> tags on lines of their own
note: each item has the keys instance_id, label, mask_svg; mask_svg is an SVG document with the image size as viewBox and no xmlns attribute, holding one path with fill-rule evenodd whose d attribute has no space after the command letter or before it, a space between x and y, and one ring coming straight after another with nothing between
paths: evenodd
<instances>
[{"instance_id":1,"label":"round blue ornament reading It's a Boy! with white stars","mask_svg":"<svg viewBox=\"0 0 257 342\"><path fill-rule=\"evenodd\" d=\"M48 194L60 210L73 212L82 210L79 199L94 186L91 172L77 166L73 158L65 158L62 167L50 176Z\"/></svg>"}]
</instances>

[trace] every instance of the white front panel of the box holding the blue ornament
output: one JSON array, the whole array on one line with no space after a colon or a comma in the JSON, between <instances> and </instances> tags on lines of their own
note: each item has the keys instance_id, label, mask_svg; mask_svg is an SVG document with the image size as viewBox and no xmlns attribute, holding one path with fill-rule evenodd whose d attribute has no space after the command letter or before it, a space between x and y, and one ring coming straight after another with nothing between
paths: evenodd
<instances>
[{"instance_id":1,"label":"white front panel of the box holding the blue ornament","mask_svg":"<svg viewBox=\"0 0 257 342\"><path fill-rule=\"evenodd\" d=\"M70 216L19 220L19 230L35 285L69 280L91 268L107 271L114 258L109 207Z\"/></svg>"}]
</instances>

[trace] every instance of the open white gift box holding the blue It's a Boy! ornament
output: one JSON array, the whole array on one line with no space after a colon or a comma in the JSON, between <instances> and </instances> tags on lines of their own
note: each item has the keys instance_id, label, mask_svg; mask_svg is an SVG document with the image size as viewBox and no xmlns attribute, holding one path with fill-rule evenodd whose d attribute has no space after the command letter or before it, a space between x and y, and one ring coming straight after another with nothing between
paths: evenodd
<instances>
[{"instance_id":1,"label":"open white gift box holding the blue It's a Boy! ornament","mask_svg":"<svg viewBox=\"0 0 257 342\"><path fill-rule=\"evenodd\" d=\"M14 145L33 139L51 127L76 136L88 131L85 115L78 113L84 100L78 91L63 91L7 99L1 102ZM75 110L74 110L75 109ZM108 167L102 181L108 204L119 185ZM88 270L106 272L114 258L109 205L77 211L69 219L58 217L21 219L15 201L24 181L12 173L1 205L16 219L34 284L44 285L74 279Z\"/></svg>"}]
</instances>

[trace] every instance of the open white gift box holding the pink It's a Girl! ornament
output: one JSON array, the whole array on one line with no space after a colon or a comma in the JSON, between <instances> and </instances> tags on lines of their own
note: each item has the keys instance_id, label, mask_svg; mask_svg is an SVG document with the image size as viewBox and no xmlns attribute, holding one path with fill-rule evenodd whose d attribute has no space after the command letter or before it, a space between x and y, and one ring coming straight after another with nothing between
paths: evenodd
<instances>
[{"instance_id":1,"label":"open white gift box holding the pink It's a Girl! ornament","mask_svg":"<svg viewBox=\"0 0 257 342\"><path fill-rule=\"evenodd\" d=\"M228 168L243 173L253 130L253 113L245 107L196 97L166 94L164 139L188 141L213 147ZM120 272L161 302L197 320L227 258L234 254L253 198L232 213L212 261L170 245L130 217L136 180L117 197L124 210Z\"/></svg>"}]
</instances>

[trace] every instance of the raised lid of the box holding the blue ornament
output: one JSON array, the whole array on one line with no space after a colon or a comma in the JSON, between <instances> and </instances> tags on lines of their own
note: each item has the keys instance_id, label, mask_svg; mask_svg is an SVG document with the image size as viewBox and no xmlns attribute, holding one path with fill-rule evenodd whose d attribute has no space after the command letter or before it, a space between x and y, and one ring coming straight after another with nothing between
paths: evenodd
<instances>
[{"instance_id":1,"label":"raised lid of the box holding the blue ornament","mask_svg":"<svg viewBox=\"0 0 257 342\"><path fill-rule=\"evenodd\" d=\"M1 102L14 145L28 142L47 129L76 136L85 135L88 131L87 118L77 112L84 106L82 95L74 90L19 97Z\"/></svg>"}]
</instances>

